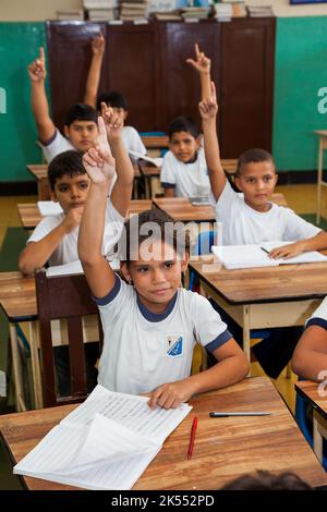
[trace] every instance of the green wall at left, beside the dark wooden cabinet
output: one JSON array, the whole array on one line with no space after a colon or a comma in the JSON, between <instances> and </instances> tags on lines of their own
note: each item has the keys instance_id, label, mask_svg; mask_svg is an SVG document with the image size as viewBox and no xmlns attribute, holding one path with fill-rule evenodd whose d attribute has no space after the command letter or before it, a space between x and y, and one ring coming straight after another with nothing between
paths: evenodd
<instances>
[{"instance_id":1,"label":"green wall at left, beside the dark wooden cabinet","mask_svg":"<svg viewBox=\"0 0 327 512\"><path fill-rule=\"evenodd\" d=\"M0 87L7 93L7 113L0 113L1 182L33 180L26 163L41 161L27 65L44 45L44 23L0 23Z\"/></svg>"}]
</instances>

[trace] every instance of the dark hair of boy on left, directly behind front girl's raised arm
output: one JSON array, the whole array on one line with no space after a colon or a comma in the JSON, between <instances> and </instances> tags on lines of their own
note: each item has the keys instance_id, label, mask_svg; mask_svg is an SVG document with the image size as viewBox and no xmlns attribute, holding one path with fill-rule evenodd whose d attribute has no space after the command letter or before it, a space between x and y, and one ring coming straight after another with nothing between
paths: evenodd
<instances>
[{"instance_id":1,"label":"dark hair of boy on left, directly behind front girl's raised arm","mask_svg":"<svg viewBox=\"0 0 327 512\"><path fill-rule=\"evenodd\" d=\"M70 149L69 151L60 153L60 155L57 155L57 157L50 161L48 167L48 180L51 191L55 191L57 180L64 174L68 174L70 178L86 174L80 153Z\"/></svg>"}]
</instances>

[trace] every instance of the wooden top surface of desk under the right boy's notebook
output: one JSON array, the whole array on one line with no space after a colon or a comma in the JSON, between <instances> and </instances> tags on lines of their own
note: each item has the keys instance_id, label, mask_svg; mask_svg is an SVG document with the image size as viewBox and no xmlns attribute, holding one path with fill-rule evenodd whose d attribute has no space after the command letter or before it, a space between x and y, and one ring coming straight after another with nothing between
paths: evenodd
<instances>
[{"instance_id":1,"label":"wooden top surface of desk under the right boy's notebook","mask_svg":"<svg viewBox=\"0 0 327 512\"><path fill-rule=\"evenodd\" d=\"M327 264L279 265L278 267L203 271L211 257L191 260L190 267L229 304L322 298L327 295Z\"/></svg>"}]
</instances>

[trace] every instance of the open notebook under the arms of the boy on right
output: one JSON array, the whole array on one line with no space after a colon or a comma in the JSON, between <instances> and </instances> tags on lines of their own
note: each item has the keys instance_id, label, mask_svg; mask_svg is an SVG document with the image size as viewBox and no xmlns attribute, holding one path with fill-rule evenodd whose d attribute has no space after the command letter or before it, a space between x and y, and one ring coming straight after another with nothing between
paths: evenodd
<instances>
[{"instance_id":1,"label":"open notebook under the arms of the boy on right","mask_svg":"<svg viewBox=\"0 0 327 512\"><path fill-rule=\"evenodd\" d=\"M278 265L288 264L327 261L327 256L324 256L317 251L302 253L290 259L271 259L268 254L263 251L264 248L269 252L275 247L281 247L282 245L291 243L292 242L263 242L261 245L213 245L211 251L227 269L277 267Z\"/></svg>"}]
</instances>

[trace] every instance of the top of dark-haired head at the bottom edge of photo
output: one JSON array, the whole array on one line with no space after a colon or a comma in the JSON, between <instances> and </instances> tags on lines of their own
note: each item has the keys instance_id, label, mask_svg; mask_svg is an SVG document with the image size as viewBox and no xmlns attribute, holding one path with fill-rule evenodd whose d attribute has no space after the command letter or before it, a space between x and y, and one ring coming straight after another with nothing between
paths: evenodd
<instances>
[{"instance_id":1,"label":"top of dark-haired head at the bottom edge of photo","mask_svg":"<svg viewBox=\"0 0 327 512\"><path fill-rule=\"evenodd\" d=\"M292 472L274 475L268 471L257 471L254 475L235 478L219 490L312 490L312 487Z\"/></svg>"}]
</instances>

